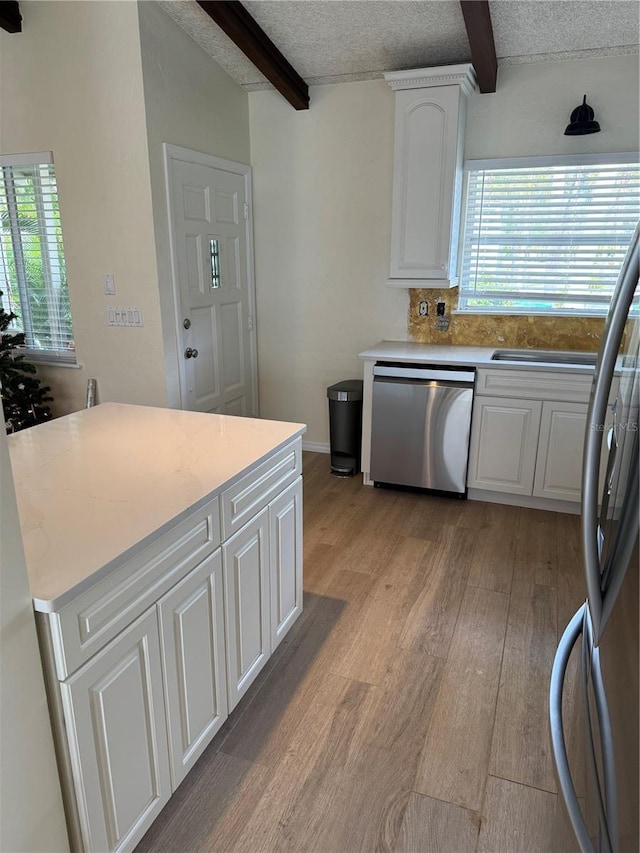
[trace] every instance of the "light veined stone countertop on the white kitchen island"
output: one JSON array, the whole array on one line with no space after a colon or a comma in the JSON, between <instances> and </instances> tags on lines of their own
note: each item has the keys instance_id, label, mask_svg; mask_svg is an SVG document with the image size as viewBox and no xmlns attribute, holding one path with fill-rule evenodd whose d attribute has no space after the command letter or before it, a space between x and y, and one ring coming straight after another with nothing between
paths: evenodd
<instances>
[{"instance_id":1,"label":"light veined stone countertop on the white kitchen island","mask_svg":"<svg viewBox=\"0 0 640 853\"><path fill-rule=\"evenodd\" d=\"M34 607L72 598L305 431L103 403L9 436Z\"/></svg>"}]
</instances>

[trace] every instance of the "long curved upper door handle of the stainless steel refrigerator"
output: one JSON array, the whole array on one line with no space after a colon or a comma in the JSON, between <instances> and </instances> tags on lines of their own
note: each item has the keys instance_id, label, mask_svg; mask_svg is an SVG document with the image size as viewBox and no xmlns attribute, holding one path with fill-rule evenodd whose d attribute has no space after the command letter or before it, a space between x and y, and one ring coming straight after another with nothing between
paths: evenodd
<instances>
[{"instance_id":1,"label":"long curved upper door handle of the stainless steel refrigerator","mask_svg":"<svg viewBox=\"0 0 640 853\"><path fill-rule=\"evenodd\" d=\"M596 372L591 389L582 464L582 551L589 596L589 611L597 643L602 629L602 583L600 576L600 548L598 535L598 480L602 431L604 429L611 382L620 351L622 335L629 309L638 284L638 256L640 224L624 259L618 283L611 299L611 307L600 343Z\"/></svg>"}]
</instances>

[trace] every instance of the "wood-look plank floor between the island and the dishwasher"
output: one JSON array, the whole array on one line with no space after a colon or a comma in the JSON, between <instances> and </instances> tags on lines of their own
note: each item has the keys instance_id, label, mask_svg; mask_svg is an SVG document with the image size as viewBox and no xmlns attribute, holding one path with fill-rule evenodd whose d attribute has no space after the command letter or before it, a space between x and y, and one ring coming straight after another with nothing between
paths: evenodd
<instances>
[{"instance_id":1,"label":"wood-look plank floor between the island and the dishwasher","mask_svg":"<svg viewBox=\"0 0 640 853\"><path fill-rule=\"evenodd\" d=\"M304 476L304 613L138 850L573 851L547 691L578 517Z\"/></svg>"}]
</instances>

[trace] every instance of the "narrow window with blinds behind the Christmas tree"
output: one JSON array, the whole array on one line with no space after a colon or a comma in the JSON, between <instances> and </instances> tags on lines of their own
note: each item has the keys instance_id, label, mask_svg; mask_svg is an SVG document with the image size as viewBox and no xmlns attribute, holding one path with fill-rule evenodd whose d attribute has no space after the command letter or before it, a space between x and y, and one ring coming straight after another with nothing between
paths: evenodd
<instances>
[{"instance_id":1,"label":"narrow window with blinds behind the Christmas tree","mask_svg":"<svg viewBox=\"0 0 640 853\"><path fill-rule=\"evenodd\" d=\"M75 362L51 154L0 156L0 291L30 359Z\"/></svg>"}]
</instances>

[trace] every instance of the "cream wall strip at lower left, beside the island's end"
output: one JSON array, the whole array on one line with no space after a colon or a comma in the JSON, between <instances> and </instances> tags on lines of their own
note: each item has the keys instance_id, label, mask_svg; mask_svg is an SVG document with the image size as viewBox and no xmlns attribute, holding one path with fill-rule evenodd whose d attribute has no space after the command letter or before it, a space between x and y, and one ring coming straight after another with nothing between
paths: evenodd
<instances>
[{"instance_id":1,"label":"cream wall strip at lower left, beside the island's end","mask_svg":"<svg viewBox=\"0 0 640 853\"><path fill-rule=\"evenodd\" d=\"M3 418L0 424L0 850L62 853L68 849Z\"/></svg>"}]
</instances>

